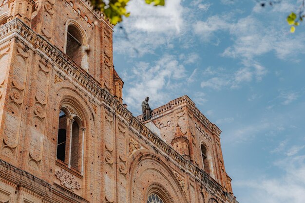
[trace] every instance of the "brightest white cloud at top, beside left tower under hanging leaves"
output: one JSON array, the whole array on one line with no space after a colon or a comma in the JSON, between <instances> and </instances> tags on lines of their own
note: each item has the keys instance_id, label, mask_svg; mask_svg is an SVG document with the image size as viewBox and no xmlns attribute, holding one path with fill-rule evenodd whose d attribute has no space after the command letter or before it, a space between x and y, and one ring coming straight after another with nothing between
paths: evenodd
<instances>
[{"instance_id":1,"label":"brightest white cloud at top, beside left tower under hanging leaves","mask_svg":"<svg viewBox=\"0 0 305 203\"><path fill-rule=\"evenodd\" d=\"M121 24L125 30L114 29L114 51L138 56L153 54L160 46L172 48L172 41L180 37L185 26L181 0L167 0L165 6L147 5L143 0L132 0L127 10L131 12ZM126 37L122 37L125 36Z\"/></svg>"}]
</instances>

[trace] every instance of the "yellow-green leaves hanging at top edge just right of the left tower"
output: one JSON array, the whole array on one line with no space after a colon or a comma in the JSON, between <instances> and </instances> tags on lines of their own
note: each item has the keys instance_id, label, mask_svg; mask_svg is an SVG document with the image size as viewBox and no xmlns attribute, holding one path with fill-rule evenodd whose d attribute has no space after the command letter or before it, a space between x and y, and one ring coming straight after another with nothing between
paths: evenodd
<instances>
[{"instance_id":1,"label":"yellow-green leaves hanging at top edge just right of the left tower","mask_svg":"<svg viewBox=\"0 0 305 203\"><path fill-rule=\"evenodd\" d=\"M127 11L126 6L129 0L90 0L96 10L103 12L114 25L121 22L123 17L129 17L130 13ZM165 0L144 0L145 3L154 6L164 6Z\"/></svg>"}]
</instances>

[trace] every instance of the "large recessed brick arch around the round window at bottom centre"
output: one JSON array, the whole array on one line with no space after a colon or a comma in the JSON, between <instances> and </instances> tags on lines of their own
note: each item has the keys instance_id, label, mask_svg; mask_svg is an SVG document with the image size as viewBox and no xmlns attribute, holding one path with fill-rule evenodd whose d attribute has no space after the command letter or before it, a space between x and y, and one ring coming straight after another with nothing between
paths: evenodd
<instances>
[{"instance_id":1,"label":"large recessed brick arch around the round window at bottom centre","mask_svg":"<svg viewBox=\"0 0 305 203\"><path fill-rule=\"evenodd\" d=\"M149 152L135 154L129 188L131 203L147 203L150 194L157 194L165 203L187 203L185 191L172 169Z\"/></svg>"}]
</instances>

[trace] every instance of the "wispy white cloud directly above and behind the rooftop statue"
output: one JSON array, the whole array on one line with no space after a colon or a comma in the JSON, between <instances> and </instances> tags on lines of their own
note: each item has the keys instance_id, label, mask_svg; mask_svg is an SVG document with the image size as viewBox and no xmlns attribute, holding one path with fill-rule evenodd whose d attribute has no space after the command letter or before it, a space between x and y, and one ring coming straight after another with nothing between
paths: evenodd
<instances>
[{"instance_id":1,"label":"wispy white cloud directly above and behind the rooftop statue","mask_svg":"<svg viewBox=\"0 0 305 203\"><path fill-rule=\"evenodd\" d=\"M164 55L153 64L137 63L124 75L133 75L124 78L132 83L126 90L125 102L137 111L146 96L151 98L151 108L170 101L171 92L181 88L179 79L186 77L186 71L174 56Z\"/></svg>"}]
</instances>

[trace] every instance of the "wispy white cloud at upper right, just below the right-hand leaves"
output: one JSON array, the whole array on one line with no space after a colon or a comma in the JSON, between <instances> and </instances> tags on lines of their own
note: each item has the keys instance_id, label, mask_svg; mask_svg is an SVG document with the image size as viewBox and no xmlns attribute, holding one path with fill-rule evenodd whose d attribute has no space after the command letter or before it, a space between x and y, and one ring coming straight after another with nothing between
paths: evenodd
<instances>
[{"instance_id":1,"label":"wispy white cloud at upper right, just below the right-hand leaves","mask_svg":"<svg viewBox=\"0 0 305 203\"><path fill-rule=\"evenodd\" d=\"M234 43L222 55L246 62L271 51L275 51L278 58L288 60L295 54L305 52L304 35L289 35L287 26L283 24L266 26L266 23L252 14L237 21L234 19L236 18L229 18L228 15L211 16L206 21L194 23L194 33L208 42L215 36L215 32L228 32Z\"/></svg>"}]
</instances>

